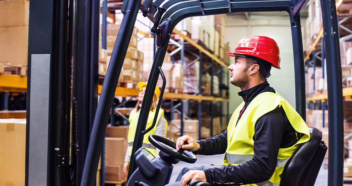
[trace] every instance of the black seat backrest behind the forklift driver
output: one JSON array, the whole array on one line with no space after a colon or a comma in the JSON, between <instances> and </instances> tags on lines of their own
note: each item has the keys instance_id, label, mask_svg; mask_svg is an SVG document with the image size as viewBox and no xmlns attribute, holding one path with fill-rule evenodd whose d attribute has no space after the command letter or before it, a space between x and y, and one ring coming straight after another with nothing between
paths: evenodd
<instances>
[{"instance_id":1,"label":"black seat backrest behind the forklift driver","mask_svg":"<svg viewBox=\"0 0 352 186\"><path fill-rule=\"evenodd\" d=\"M313 186L323 163L327 147L322 132L309 128L311 139L302 144L286 163L281 175L281 186Z\"/></svg>"}]
</instances>

